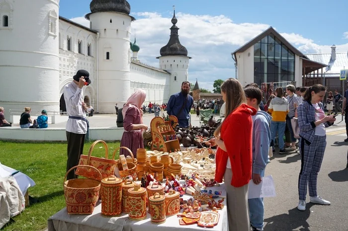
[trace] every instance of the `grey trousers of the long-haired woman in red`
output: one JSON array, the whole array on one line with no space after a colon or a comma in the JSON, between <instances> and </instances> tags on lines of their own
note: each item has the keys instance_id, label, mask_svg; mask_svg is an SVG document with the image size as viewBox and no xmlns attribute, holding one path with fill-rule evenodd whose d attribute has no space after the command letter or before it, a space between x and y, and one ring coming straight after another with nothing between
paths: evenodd
<instances>
[{"instance_id":1,"label":"grey trousers of the long-haired woman in red","mask_svg":"<svg viewBox=\"0 0 348 231\"><path fill-rule=\"evenodd\" d=\"M226 169L224 174L227 192L227 218L229 231L250 231L248 187L231 185L232 170Z\"/></svg>"}]
</instances>

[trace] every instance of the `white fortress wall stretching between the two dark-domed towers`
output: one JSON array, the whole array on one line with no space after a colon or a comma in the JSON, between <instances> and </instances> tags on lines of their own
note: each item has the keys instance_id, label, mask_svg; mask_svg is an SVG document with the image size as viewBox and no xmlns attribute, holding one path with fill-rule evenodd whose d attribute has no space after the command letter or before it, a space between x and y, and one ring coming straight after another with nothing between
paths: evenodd
<instances>
[{"instance_id":1,"label":"white fortress wall stretching between the two dark-domed towers","mask_svg":"<svg viewBox=\"0 0 348 231\"><path fill-rule=\"evenodd\" d=\"M131 92L136 89L146 91L145 104L167 103L169 100L170 74L163 71L131 63Z\"/></svg>"}]
</instances>

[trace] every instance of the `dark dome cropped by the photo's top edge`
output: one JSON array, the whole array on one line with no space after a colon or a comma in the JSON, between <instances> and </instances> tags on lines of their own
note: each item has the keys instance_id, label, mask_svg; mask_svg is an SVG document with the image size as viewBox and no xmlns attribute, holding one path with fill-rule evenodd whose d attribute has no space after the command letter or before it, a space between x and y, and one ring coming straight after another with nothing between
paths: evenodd
<instances>
[{"instance_id":1,"label":"dark dome cropped by the photo's top edge","mask_svg":"<svg viewBox=\"0 0 348 231\"><path fill-rule=\"evenodd\" d=\"M130 4L127 0L92 0L89 4L90 12L118 12L129 14ZM89 13L90 14L90 13ZM89 14L86 18L89 19Z\"/></svg>"}]
</instances>

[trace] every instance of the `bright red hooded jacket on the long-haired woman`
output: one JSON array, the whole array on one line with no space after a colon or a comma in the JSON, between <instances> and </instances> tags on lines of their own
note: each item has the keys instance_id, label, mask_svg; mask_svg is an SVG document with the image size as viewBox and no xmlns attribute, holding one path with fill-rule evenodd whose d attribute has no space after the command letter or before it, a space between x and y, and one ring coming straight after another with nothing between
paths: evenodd
<instances>
[{"instance_id":1,"label":"bright red hooded jacket on the long-haired woman","mask_svg":"<svg viewBox=\"0 0 348 231\"><path fill-rule=\"evenodd\" d=\"M222 182L228 157L230 157L233 174L231 185L241 187L248 184L252 178L252 116L256 113L256 109L242 104L223 121L220 139L224 140L227 152L220 148L216 152L215 180L217 182Z\"/></svg>"}]
</instances>

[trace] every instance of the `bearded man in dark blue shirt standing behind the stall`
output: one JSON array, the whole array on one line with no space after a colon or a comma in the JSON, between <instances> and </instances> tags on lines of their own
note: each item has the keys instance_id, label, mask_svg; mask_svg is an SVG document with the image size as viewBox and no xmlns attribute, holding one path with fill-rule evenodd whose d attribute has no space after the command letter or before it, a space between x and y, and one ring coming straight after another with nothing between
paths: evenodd
<instances>
[{"instance_id":1,"label":"bearded man in dark blue shirt standing behind the stall","mask_svg":"<svg viewBox=\"0 0 348 231\"><path fill-rule=\"evenodd\" d=\"M190 111L193 105L193 97L188 95L190 91L190 82L183 81L181 92L171 96L167 104L167 113L170 116L176 116L180 127L188 127Z\"/></svg>"}]
</instances>

